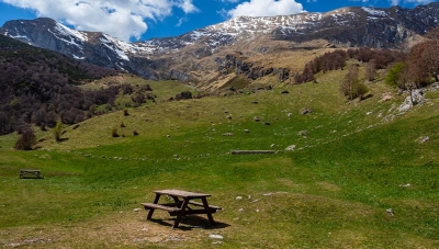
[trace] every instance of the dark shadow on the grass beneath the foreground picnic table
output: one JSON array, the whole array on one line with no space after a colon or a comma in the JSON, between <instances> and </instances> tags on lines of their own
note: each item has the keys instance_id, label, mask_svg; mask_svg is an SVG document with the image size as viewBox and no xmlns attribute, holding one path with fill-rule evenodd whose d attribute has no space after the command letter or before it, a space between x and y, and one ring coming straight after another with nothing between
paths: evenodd
<instances>
[{"instance_id":1,"label":"dark shadow on the grass beneath the foreground picnic table","mask_svg":"<svg viewBox=\"0 0 439 249\"><path fill-rule=\"evenodd\" d=\"M160 224L162 226L167 227L172 227L176 218L169 218L169 219L158 219L158 218L151 218L147 219L147 222L153 222ZM223 229L226 228L230 225L226 223L221 223L215 220L215 225L211 225L209 223L207 218L204 217L199 217L199 216L185 216L181 219L179 226L176 229L181 229L181 230L192 230L194 228L201 228L201 229Z\"/></svg>"}]
</instances>

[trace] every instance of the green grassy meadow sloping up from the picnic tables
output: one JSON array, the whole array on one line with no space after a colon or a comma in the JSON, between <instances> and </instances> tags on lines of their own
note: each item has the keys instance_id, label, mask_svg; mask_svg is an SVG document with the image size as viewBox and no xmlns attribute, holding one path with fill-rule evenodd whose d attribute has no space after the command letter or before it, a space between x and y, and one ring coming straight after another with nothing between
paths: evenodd
<instances>
[{"instance_id":1,"label":"green grassy meadow sloping up from the picnic tables","mask_svg":"<svg viewBox=\"0 0 439 249\"><path fill-rule=\"evenodd\" d=\"M439 92L398 113L406 95L381 81L348 102L344 73L184 101L165 101L181 84L154 83L164 101L66 126L59 143L38 131L37 150L1 136L0 248L438 248ZM24 168L44 179L19 179ZM135 208L159 189L212 194L217 225L146 220Z\"/></svg>"}]
</instances>

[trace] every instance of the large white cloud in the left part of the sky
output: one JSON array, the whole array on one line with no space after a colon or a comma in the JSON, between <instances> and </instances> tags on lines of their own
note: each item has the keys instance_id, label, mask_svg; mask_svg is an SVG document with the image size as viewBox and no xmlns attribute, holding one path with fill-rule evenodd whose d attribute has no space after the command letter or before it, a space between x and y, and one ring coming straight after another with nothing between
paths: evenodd
<instances>
[{"instance_id":1,"label":"large white cloud in the left part of the sky","mask_svg":"<svg viewBox=\"0 0 439 249\"><path fill-rule=\"evenodd\" d=\"M148 30L145 19L161 20L173 8L196 12L193 0L0 0L33 10L82 31L101 31L120 39L139 38Z\"/></svg>"}]
</instances>

